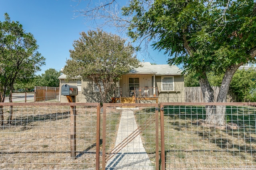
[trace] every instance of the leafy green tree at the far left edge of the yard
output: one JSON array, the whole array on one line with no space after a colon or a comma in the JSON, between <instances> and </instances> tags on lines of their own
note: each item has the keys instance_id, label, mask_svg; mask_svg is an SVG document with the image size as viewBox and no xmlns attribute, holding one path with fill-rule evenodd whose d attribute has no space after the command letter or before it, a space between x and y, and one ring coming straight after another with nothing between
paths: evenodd
<instances>
[{"instance_id":1,"label":"leafy green tree at the far left edge of the yard","mask_svg":"<svg viewBox=\"0 0 256 170\"><path fill-rule=\"evenodd\" d=\"M45 58L37 51L36 39L26 33L18 21L11 21L7 13L5 21L0 21L0 102L12 92L17 80L25 81L40 70ZM10 95L11 102L11 95ZM0 109L0 125L3 125Z\"/></svg>"}]
</instances>

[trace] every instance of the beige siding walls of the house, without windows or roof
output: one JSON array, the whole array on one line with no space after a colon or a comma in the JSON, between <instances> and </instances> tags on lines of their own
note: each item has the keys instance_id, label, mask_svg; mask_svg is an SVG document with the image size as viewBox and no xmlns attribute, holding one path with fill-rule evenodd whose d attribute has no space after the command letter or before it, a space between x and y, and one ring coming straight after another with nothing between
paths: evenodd
<instances>
[{"instance_id":1,"label":"beige siding walls of the house, without windows or roof","mask_svg":"<svg viewBox=\"0 0 256 170\"><path fill-rule=\"evenodd\" d=\"M129 78L138 77L140 87L152 87L152 76L148 74L137 74L134 75L124 75L120 79L120 87L122 88L122 96L129 96ZM160 102L184 102L184 77L183 76L174 76L174 91L162 92L162 76L155 76L155 86L158 87L159 96L158 103ZM77 86L76 81L65 82L61 80L60 87L63 84L70 84ZM107 101L110 101L112 97L118 96L118 82L116 86L112 88L109 92ZM68 102L66 96L60 96L60 102ZM78 91L76 96L76 102L100 102L100 93L93 92L93 81L91 80L82 80L82 91Z\"/></svg>"}]
</instances>

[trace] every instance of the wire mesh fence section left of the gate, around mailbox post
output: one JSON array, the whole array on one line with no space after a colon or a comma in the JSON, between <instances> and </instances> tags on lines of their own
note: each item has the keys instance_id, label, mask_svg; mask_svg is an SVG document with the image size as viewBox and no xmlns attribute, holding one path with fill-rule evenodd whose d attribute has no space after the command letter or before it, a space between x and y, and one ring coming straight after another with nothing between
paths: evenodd
<instances>
[{"instance_id":1,"label":"wire mesh fence section left of the gate, around mailbox post","mask_svg":"<svg viewBox=\"0 0 256 170\"><path fill-rule=\"evenodd\" d=\"M76 105L76 159L70 157L70 106L23 104L1 126L0 169L95 169L97 105ZM8 117L10 106L2 111Z\"/></svg>"}]
</instances>

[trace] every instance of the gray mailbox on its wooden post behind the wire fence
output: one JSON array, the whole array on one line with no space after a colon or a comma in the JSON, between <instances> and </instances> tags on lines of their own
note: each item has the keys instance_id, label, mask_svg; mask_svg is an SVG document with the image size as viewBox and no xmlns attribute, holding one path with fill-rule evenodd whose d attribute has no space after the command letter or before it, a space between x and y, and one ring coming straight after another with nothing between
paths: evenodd
<instances>
[{"instance_id":1,"label":"gray mailbox on its wooden post behind the wire fence","mask_svg":"<svg viewBox=\"0 0 256 170\"><path fill-rule=\"evenodd\" d=\"M61 95L67 97L68 102L76 102L77 86L64 84L61 87ZM76 106L70 106L70 155L76 158Z\"/></svg>"}]
</instances>

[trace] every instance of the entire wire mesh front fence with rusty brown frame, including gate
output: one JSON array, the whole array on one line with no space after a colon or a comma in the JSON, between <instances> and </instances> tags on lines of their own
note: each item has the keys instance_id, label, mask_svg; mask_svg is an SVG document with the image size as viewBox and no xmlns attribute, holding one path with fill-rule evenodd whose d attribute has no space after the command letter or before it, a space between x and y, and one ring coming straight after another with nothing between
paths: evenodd
<instances>
[{"instance_id":1,"label":"entire wire mesh front fence with rusty brown frame, including gate","mask_svg":"<svg viewBox=\"0 0 256 170\"><path fill-rule=\"evenodd\" d=\"M203 121L206 105L226 125ZM0 169L256 169L256 103L158 106L2 103Z\"/></svg>"}]
</instances>

